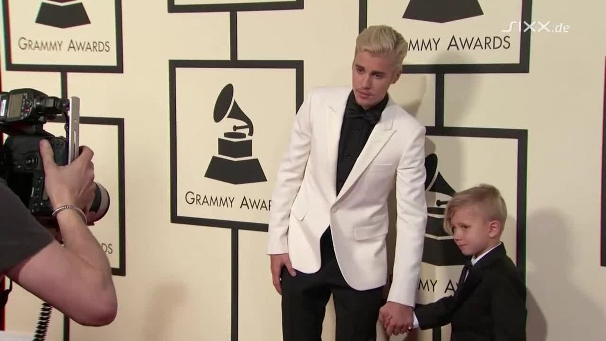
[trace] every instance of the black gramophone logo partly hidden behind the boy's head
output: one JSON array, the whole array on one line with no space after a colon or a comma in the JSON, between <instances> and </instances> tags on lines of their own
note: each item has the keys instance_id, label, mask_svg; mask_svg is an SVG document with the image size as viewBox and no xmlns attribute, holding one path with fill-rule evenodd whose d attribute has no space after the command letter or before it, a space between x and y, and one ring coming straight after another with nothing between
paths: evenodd
<instances>
[{"instance_id":1,"label":"black gramophone logo partly hidden behind the boy's head","mask_svg":"<svg viewBox=\"0 0 606 341\"><path fill-rule=\"evenodd\" d=\"M456 193L438 171L438 155L425 157L425 198L427 199L427 229L423 251L423 262L436 266L461 265L467 258L444 231L446 204Z\"/></svg>"}]
</instances>

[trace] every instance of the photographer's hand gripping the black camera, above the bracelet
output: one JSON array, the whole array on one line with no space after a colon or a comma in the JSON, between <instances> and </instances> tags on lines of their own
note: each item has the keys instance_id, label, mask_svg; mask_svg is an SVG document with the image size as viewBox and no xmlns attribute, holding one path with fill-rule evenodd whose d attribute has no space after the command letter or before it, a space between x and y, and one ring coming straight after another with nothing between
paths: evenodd
<instances>
[{"instance_id":1,"label":"photographer's hand gripping the black camera, above the bracelet","mask_svg":"<svg viewBox=\"0 0 606 341\"><path fill-rule=\"evenodd\" d=\"M81 147L79 157L71 164L57 166L50 143L42 140L40 155L44 165L44 186L53 209L72 204L86 213L95 197L95 170L91 161L93 151Z\"/></svg>"}]
</instances>

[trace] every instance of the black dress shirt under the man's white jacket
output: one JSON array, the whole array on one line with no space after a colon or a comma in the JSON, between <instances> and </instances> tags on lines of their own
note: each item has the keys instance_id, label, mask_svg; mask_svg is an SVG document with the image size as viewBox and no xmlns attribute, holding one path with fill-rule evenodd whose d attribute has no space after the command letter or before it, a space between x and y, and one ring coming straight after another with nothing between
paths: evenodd
<instances>
[{"instance_id":1,"label":"black dress shirt under the man's white jacket","mask_svg":"<svg viewBox=\"0 0 606 341\"><path fill-rule=\"evenodd\" d=\"M353 94L353 90L347 98L343 124L341 126L341 138L339 140L339 154L337 159L337 183L336 194L341 191L341 187L347 180L353 165L358 160L362 149L370 133L375 128L376 123L381 120L381 113L387 106L388 96L375 106L364 110L358 103Z\"/></svg>"}]
</instances>

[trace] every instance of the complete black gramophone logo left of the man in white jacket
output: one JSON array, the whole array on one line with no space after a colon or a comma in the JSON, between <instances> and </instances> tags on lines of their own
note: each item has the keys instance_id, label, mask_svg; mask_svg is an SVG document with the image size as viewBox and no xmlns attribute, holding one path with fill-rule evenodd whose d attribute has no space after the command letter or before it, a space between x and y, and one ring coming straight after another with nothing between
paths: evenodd
<instances>
[{"instance_id":1,"label":"complete black gramophone logo left of the man in white jacket","mask_svg":"<svg viewBox=\"0 0 606 341\"><path fill-rule=\"evenodd\" d=\"M204 177L230 184L267 181L261 163L253 158L253 123L233 98L233 85L227 84L219 93L213 113L215 123L225 118L244 122L234 125L233 131L218 138L218 154L211 158ZM238 130L247 129L247 133Z\"/></svg>"}]
</instances>

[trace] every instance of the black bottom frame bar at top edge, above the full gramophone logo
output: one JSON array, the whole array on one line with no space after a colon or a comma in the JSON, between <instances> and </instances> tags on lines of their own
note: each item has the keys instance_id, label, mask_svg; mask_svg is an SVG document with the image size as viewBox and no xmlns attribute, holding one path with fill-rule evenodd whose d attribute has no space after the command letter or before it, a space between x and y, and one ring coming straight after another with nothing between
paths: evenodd
<instances>
[{"instance_id":1,"label":"black bottom frame bar at top edge, above the full gramophone logo","mask_svg":"<svg viewBox=\"0 0 606 341\"><path fill-rule=\"evenodd\" d=\"M301 10L303 8L303 2L304 0L225 4L222 3L221 0L218 0L216 4L175 5L175 0L168 0L168 13Z\"/></svg>"}]
</instances>

